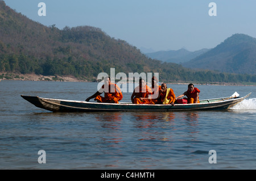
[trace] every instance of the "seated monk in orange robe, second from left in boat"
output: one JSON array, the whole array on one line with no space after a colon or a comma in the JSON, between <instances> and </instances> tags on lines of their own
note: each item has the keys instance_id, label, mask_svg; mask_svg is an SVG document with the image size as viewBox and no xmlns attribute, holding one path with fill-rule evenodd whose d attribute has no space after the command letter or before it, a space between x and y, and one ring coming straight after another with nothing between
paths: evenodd
<instances>
[{"instance_id":1,"label":"seated monk in orange robe, second from left in boat","mask_svg":"<svg viewBox=\"0 0 256 181\"><path fill-rule=\"evenodd\" d=\"M131 95L131 102L133 104L154 104L148 95L152 94L150 87L146 85L144 79L139 79L139 86L136 87Z\"/></svg>"}]
</instances>

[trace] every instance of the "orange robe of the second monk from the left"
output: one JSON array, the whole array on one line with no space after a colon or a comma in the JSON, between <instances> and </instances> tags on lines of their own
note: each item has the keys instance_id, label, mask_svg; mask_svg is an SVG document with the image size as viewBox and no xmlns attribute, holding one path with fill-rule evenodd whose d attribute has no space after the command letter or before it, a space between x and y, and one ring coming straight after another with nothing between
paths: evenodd
<instances>
[{"instance_id":1,"label":"orange robe of the second monk from the left","mask_svg":"<svg viewBox=\"0 0 256 181\"><path fill-rule=\"evenodd\" d=\"M154 104L151 100L139 100L139 98L148 98L148 95L152 94L152 90L150 87L145 85L144 87L136 87L135 88L135 97L133 99L134 104Z\"/></svg>"}]
</instances>

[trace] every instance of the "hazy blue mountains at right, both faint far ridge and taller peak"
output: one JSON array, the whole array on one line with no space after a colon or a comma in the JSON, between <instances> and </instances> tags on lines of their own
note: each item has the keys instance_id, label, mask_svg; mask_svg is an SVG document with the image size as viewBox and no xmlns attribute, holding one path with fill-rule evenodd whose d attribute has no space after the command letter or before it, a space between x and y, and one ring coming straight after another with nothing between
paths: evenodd
<instances>
[{"instance_id":1,"label":"hazy blue mountains at right, both faint far ridge and taller peak","mask_svg":"<svg viewBox=\"0 0 256 181\"><path fill-rule=\"evenodd\" d=\"M237 33L212 49L189 52L185 49L146 53L150 58L181 64L196 70L256 74L256 39Z\"/></svg>"}]
</instances>

